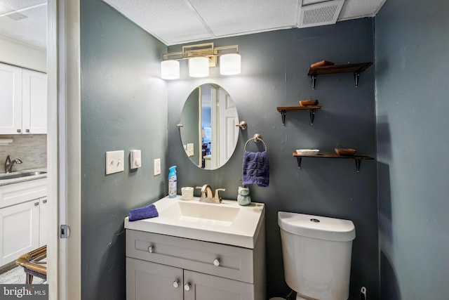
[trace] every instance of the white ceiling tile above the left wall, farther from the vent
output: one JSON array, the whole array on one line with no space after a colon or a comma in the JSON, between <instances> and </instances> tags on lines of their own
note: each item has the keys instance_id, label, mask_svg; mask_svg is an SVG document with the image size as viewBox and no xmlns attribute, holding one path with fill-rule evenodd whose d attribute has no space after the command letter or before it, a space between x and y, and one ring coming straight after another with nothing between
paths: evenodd
<instances>
[{"instance_id":1,"label":"white ceiling tile above the left wall, farther from the vent","mask_svg":"<svg viewBox=\"0 0 449 300\"><path fill-rule=\"evenodd\" d=\"M212 35L184 0L104 0L166 45Z\"/></svg>"}]
</instances>

